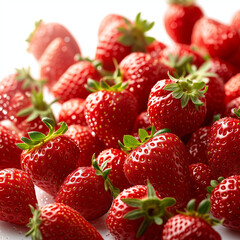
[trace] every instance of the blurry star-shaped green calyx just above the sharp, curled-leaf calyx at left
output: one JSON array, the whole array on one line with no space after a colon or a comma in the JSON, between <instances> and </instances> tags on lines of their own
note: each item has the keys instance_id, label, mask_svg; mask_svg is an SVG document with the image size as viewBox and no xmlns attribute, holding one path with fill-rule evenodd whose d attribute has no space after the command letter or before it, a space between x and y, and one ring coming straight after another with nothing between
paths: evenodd
<instances>
[{"instance_id":1,"label":"blurry star-shaped green calyx just above the sharp, curled-leaf calyx at left","mask_svg":"<svg viewBox=\"0 0 240 240\"><path fill-rule=\"evenodd\" d=\"M20 110L17 113L17 116L18 117L28 116L28 118L26 119L27 122L31 122L37 117L40 118L49 117L54 119L54 121L56 122L51 106L57 101L58 99L55 99L48 104L44 101L43 92L41 90L37 92L36 90L33 89L31 95L32 106Z\"/></svg>"}]
</instances>

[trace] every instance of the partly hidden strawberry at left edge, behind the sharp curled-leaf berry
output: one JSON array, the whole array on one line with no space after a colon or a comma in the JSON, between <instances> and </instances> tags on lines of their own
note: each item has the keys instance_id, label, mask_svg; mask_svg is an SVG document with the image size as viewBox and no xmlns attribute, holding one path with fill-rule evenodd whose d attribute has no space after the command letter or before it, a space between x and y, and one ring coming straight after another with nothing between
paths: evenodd
<instances>
[{"instance_id":1,"label":"partly hidden strawberry at left edge, behind the sharp curled-leaf berry","mask_svg":"<svg viewBox=\"0 0 240 240\"><path fill-rule=\"evenodd\" d=\"M0 169L21 169L21 149L16 146L20 137L14 131L0 125Z\"/></svg>"}]
</instances>

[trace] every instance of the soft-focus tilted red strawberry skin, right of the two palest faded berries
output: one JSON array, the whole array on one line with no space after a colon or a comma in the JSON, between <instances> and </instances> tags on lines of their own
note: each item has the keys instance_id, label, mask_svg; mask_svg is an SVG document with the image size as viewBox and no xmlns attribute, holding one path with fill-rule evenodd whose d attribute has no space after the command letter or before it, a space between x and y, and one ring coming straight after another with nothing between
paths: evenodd
<instances>
[{"instance_id":1,"label":"soft-focus tilted red strawberry skin, right of the two palest faded berries","mask_svg":"<svg viewBox=\"0 0 240 240\"><path fill-rule=\"evenodd\" d=\"M52 88L55 98L65 102L72 98L86 98L89 91L85 88L88 78L99 81L101 76L95 66L88 61L80 61L71 65Z\"/></svg>"}]
</instances>

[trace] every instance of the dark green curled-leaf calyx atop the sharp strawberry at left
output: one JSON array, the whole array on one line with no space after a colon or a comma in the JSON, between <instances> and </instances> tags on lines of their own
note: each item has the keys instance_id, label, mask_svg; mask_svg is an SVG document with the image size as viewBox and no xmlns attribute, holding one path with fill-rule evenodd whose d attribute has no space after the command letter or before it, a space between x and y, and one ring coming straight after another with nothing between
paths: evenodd
<instances>
[{"instance_id":1,"label":"dark green curled-leaf calyx atop the sharp strawberry at left","mask_svg":"<svg viewBox=\"0 0 240 240\"><path fill-rule=\"evenodd\" d=\"M30 139L22 137L21 140L23 143L16 144L20 149L30 151L32 149L38 148L42 146L42 144L48 142L54 137L64 134L68 130L68 126L65 122L60 122L58 124L60 125L59 129L55 131L55 121L53 119L43 118L42 121L49 129L48 135L36 131L29 132L28 136Z\"/></svg>"}]
</instances>

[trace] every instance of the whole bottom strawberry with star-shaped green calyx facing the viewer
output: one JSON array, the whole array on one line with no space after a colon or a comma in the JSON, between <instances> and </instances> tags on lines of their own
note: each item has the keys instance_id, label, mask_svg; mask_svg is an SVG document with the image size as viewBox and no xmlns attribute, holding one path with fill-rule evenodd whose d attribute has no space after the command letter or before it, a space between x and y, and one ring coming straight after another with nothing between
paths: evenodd
<instances>
[{"instance_id":1,"label":"whole bottom strawberry with star-shaped green calyx facing the viewer","mask_svg":"<svg viewBox=\"0 0 240 240\"><path fill-rule=\"evenodd\" d=\"M162 198L148 182L123 190L107 215L106 225L115 239L161 239L163 225L172 215L167 210L174 198Z\"/></svg>"}]
</instances>

